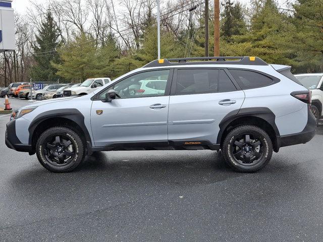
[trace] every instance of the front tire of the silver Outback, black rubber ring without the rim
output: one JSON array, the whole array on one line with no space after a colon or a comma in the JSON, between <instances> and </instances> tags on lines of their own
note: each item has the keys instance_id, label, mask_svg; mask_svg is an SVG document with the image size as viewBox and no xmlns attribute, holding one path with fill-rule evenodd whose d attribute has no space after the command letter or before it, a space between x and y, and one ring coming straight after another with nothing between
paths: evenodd
<instances>
[{"instance_id":1,"label":"front tire of the silver Outback, black rubber ring without the rim","mask_svg":"<svg viewBox=\"0 0 323 242\"><path fill-rule=\"evenodd\" d=\"M75 147L76 155L73 157L73 160L64 166L55 166L47 161L47 159L44 156L44 148L46 145L46 139L49 136L52 135L65 135L68 136ZM36 145L36 153L39 162L48 170L53 172L67 172L75 169L83 160L83 154L84 154L84 145L80 137L72 130L69 130L67 128L51 128L47 131L45 131L38 139L37 145Z\"/></svg>"}]
</instances>

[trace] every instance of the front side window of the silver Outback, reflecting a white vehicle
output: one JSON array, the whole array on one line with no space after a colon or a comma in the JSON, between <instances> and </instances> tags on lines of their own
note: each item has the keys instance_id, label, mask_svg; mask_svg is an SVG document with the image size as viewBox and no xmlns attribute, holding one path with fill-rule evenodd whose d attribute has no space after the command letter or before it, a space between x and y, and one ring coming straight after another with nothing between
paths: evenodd
<instances>
[{"instance_id":1,"label":"front side window of the silver Outback, reflecting a white vehicle","mask_svg":"<svg viewBox=\"0 0 323 242\"><path fill-rule=\"evenodd\" d=\"M120 98L164 96L169 74L170 70L157 70L132 75L102 92L100 99L105 98L105 93L110 89L114 89ZM156 85L160 89L151 88L153 85L151 83L154 82L159 83ZM161 85L160 83L165 83L165 85ZM149 84L148 87L147 84Z\"/></svg>"}]
</instances>

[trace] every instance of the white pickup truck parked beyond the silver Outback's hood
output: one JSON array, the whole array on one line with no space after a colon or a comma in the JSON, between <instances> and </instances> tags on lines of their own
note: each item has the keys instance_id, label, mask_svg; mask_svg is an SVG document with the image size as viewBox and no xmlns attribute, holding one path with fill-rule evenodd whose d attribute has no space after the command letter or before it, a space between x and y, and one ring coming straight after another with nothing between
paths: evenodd
<instances>
[{"instance_id":1,"label":"white pickup truck parked beyond the silver Outback's hood","mask_svg":"<svg viewBox=\"0 0 323 242\"><path fill-rule=\"evenodd\" d=\"M94 92L96 89L103 87L105 84L111 82L110 78L101 77L101 78L90 78L85 80L80 86L69 88L64 90L63 96L77 96L77 95L86 95L91 92Z\"/></svg>"}]
</instances>

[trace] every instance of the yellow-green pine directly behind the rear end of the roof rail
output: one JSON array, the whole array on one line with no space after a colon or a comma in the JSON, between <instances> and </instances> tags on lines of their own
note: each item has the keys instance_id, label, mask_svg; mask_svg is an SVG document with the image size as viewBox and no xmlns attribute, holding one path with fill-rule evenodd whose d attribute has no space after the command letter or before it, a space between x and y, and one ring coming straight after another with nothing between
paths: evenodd
<instances>
[{"instance_id":1,"label":"yellow-green pine directly behind the rear end of the roof rail","mask_svg":"<svg viewBox=\"0 0 323 242\"><path fill-rule=\"evenodd\" d=\"M291 64L291 50L281 47L281 35L288 31L286 16L279 12L273 0L254 0L249 31L233 35L232 43L222 42L224 55L259 56L268 63Z\"/></svg>"}]
</instances>

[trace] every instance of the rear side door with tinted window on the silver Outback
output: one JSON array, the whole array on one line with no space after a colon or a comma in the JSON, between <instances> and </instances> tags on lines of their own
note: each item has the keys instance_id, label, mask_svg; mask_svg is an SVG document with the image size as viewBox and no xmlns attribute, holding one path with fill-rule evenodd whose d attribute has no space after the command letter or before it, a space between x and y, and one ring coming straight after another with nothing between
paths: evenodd
<instances>
[{"instance_id":1,"label":"rear side door with tinted window on the silver Outback","mask_svg":"<svg viewBox=\"0 0 323 242\"><path fill-rule=\"evenodd\" d=\"M238 113L244 92L224 69L178 69L172 83L168 139L170 142L202 141L216 144L221 120Z\"/></svg>"}]
</instances>

